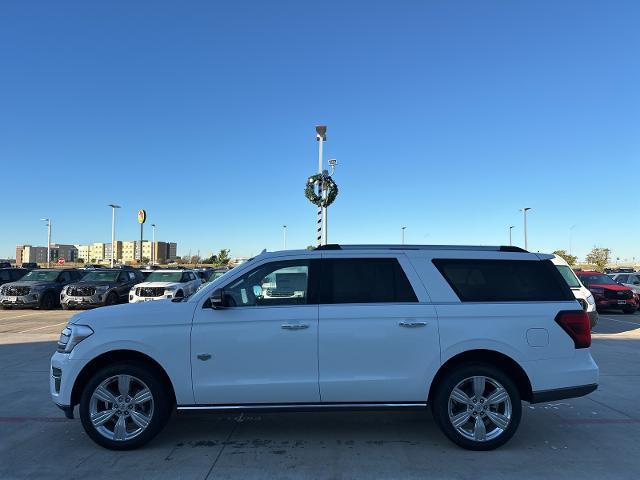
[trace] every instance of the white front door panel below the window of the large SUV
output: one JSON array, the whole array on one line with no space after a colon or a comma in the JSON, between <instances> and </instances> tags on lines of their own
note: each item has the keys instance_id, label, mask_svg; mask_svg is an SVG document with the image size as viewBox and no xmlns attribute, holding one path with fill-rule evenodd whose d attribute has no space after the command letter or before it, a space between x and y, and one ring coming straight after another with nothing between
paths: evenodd
<instances>
[{"instance_id":1,"label":"white front door panel below the window of the large SUV","mask_svg":"<svg viewBox=\"0 0 640 480\"><path fill-rule=\"evenodd\" d=\"M317 305L198 309L191 336L196 402L318 402L317 335Z\"/></svg>"}]
</instances>

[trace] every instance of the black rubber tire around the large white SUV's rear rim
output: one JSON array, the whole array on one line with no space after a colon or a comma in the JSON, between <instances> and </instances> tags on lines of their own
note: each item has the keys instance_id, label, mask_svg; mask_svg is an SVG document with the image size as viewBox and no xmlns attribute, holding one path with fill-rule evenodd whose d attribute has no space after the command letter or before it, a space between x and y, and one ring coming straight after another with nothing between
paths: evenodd
<instances>
[{"instance_id":1,"label":"black rubber tire around the large white SUV's rear rim","mask_svg":"<svg viewBox=\"0 0 640 480\"><path fill-rule=\"evenodd\" d=\"M452 421L449 417L449 400L454 388L461 384L461 382L478 376L486 377L488 379L485 382L484 390L484 392L487 392L486 399L490 399L491 394L497 392L497 389L494 389L494 384L490 382L493 381L497 385L500 385L504 388L504 390L508 394L508 404L510 405L510 419L508 421L508 424L506 425L506 428L491 428L490 430L487 430L486 435L495 436L493 436L493 438L485 440L475 440L463 435L457 430L456 427L453 426ZM467 385L467 383L463 383L461 389L467 388ZM482 425L484 425L485 429L487 425L497 427L497 424L494 424L488 417L488 415L492 415L495 418L496 414L500 414L500 418L504 418L503 414L506 412L506 410L501 411L498 409L503 408L502 403L499 406L494 405L492 407L491 405L489 405L489 403L485 404L484 401L481 403L473 395L472 391L469 391L469 393L470 395L467 396L467 399L470 403L467 407L462 408L462 405L464 405L463 403L458 403L455 400L452 400L452 410L454 406L456 409L460 409L454 410L452 413L459 411L459 413L461 414L468 413L470 415L468 417L467 423L460 425L460 428L463 430L467 430L464 427L468 425L468 429L471 430L471 425L473 424L473 427L475 428L475 426L478 425L477 422L482 422ZM476 402L473 401L474 399L476 400ZM484 397L481 397L481 399L484 399ZM484 406L484 411L482 410L482 406ZM475 408L481 409L480 413L476 413L476 410L473 410ZM496 410L492 410L492 408L496 408ZM504 408L506 409L506 406L504 406ZM465 409L467 410L465 411ZM467 450L493 450L500 447L501 445L504 445L518 429L520 418L522 417L522 403L520 400L520 393L515 383L500 369L484 363L473 363L457 367L446 373L445 376L439 381L438 385L436 385L435 394L432 395L431 410L433 412L433 417L442 432L453 443ZM461 418L463 417L464 415L461 416ZM482 427L482 425L480 425L480 427ZM481 430L478 429L478 431ZM470 432L468 432L468 434L470 435Z\"/></svg>"}]
</instances>

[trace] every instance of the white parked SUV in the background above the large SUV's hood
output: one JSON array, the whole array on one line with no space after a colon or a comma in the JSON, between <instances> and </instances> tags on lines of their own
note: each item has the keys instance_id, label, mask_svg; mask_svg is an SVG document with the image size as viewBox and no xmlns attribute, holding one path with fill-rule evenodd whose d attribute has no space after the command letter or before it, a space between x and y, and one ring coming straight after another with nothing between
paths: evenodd
<instances>
[{"instance_id":1,"label":"white parked SUV in the background above the large SUV's hood","mask_svg":"<svg viewBox=\"0 0 640 480\"><path fill-rule=\"evenodd\" d=\"M202 285L193 270L156 270L129 292L129 303L188 297Z\"/></svg>"}]
</instances>

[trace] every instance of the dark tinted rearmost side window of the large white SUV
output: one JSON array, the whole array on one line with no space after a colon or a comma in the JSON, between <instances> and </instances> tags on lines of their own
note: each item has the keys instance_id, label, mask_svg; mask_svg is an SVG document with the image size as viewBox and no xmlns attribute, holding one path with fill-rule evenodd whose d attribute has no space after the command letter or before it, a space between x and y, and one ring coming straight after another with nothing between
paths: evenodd
<instances>
[{"instance_id":1,"label":"dark tinted rearmost side window of the large white SUV","mask_svg":"<svg viewBox=\"0 0 640 480\"><path fill-rule=\"evenodd\" d=\"M548 260L434 259L433 264L463 302L574 300Z\"/></svg>"}]
</instances>

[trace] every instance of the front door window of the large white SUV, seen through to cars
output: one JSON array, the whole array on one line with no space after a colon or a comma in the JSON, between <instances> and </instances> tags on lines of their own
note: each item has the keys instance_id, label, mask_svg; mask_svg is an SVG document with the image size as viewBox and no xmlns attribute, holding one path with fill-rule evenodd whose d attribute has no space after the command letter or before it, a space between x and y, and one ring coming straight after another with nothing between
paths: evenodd
<instances>
[{"instance_id":1,"label":"front door window of the large white SUV, seen through to cars","mask_svg":"<svg viewBox=\"0 0 640 480\"><path fill-rule=\"evenodd\" d=\"M306 305L309 266L289 260L256 267L224 287L225 301L229 307Z\"/></svg>"}]
</instances>

